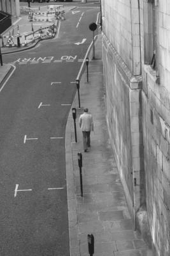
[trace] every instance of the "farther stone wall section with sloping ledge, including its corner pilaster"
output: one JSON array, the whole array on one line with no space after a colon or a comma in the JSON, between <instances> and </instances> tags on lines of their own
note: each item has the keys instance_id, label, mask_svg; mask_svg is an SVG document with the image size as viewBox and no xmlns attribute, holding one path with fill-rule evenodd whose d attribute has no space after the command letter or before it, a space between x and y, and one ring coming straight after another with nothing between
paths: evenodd
<instances>
[{"instance_id":1,"label":"farther stone wall section with sloping ledge, including its corner pilaster","mask_svg":"<svg viewBox=\"0 0 170 256\"><path fill-rule=\"evenodd\" d=\"M103 1L106 115L129 210L145 204L141 125L139 10L135 1Z\"/></svg>"}]
</instances>

